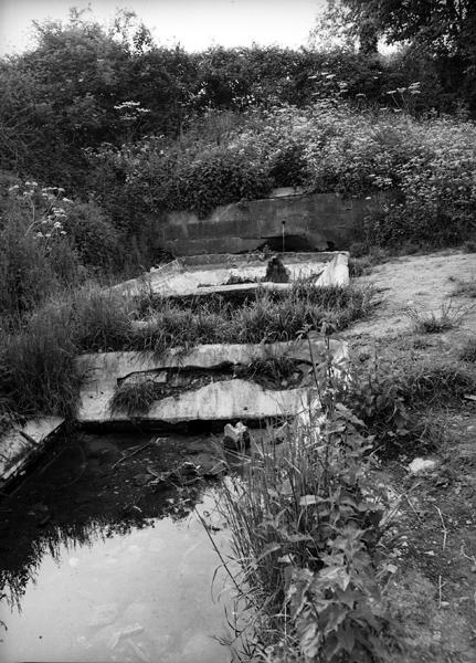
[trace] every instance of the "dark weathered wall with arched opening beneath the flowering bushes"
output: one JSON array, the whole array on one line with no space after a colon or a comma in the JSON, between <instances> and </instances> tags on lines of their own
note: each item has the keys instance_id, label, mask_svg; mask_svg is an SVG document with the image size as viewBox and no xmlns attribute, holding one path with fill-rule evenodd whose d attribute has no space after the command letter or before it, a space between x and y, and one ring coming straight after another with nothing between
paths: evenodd
<instances>
[{"instance_id":1,"label":"dark weathered wall with arched opening beneath the flowering bushes","mask_svg":"<svg viewBox=\"0 0 476 663\"><path fill-rule=\"evenodd\" d=\"M347 249L355 228L374 200L342 199L337 193L288 194L218 207L207 219L192 212L170 212L157 232L159 244L173 255L242 253L268 243L292 250ZM276 245L274 245L276 244Z\"/></svg>"}]
</instances>

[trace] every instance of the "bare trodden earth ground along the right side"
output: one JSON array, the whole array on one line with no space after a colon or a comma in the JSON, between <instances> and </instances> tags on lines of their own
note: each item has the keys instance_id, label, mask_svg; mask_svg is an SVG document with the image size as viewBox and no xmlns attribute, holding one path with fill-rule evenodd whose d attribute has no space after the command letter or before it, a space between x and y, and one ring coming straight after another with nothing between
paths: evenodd
<instances>
[{"instance_id":1,"label":"bare trodden earth ground along the right side","mask_svg":"<svg viewBox=\"0 0 476 663\"><path fill-rule=\"evenodd\" d=\"M353 357L457 362L464 339L476 334L476 299L452 296L454 278L476 278L476 254L441 252L392 259L357 281L382 297L370 319L347 334ZM408 307L438 312L452 302L465 313L441 334L415 334ZM468 365L469 366L469 365ZM473 369L476 370L473 364ZM382 462L381 477L400 496L394 520L393 575L385 600L402 628L402 663L476 662L476 403L429 410L446 431L432 455L437 466L411 474L409 460ZM419 454L421 455L421 454Z\"/></svg>"}]
</instances>

